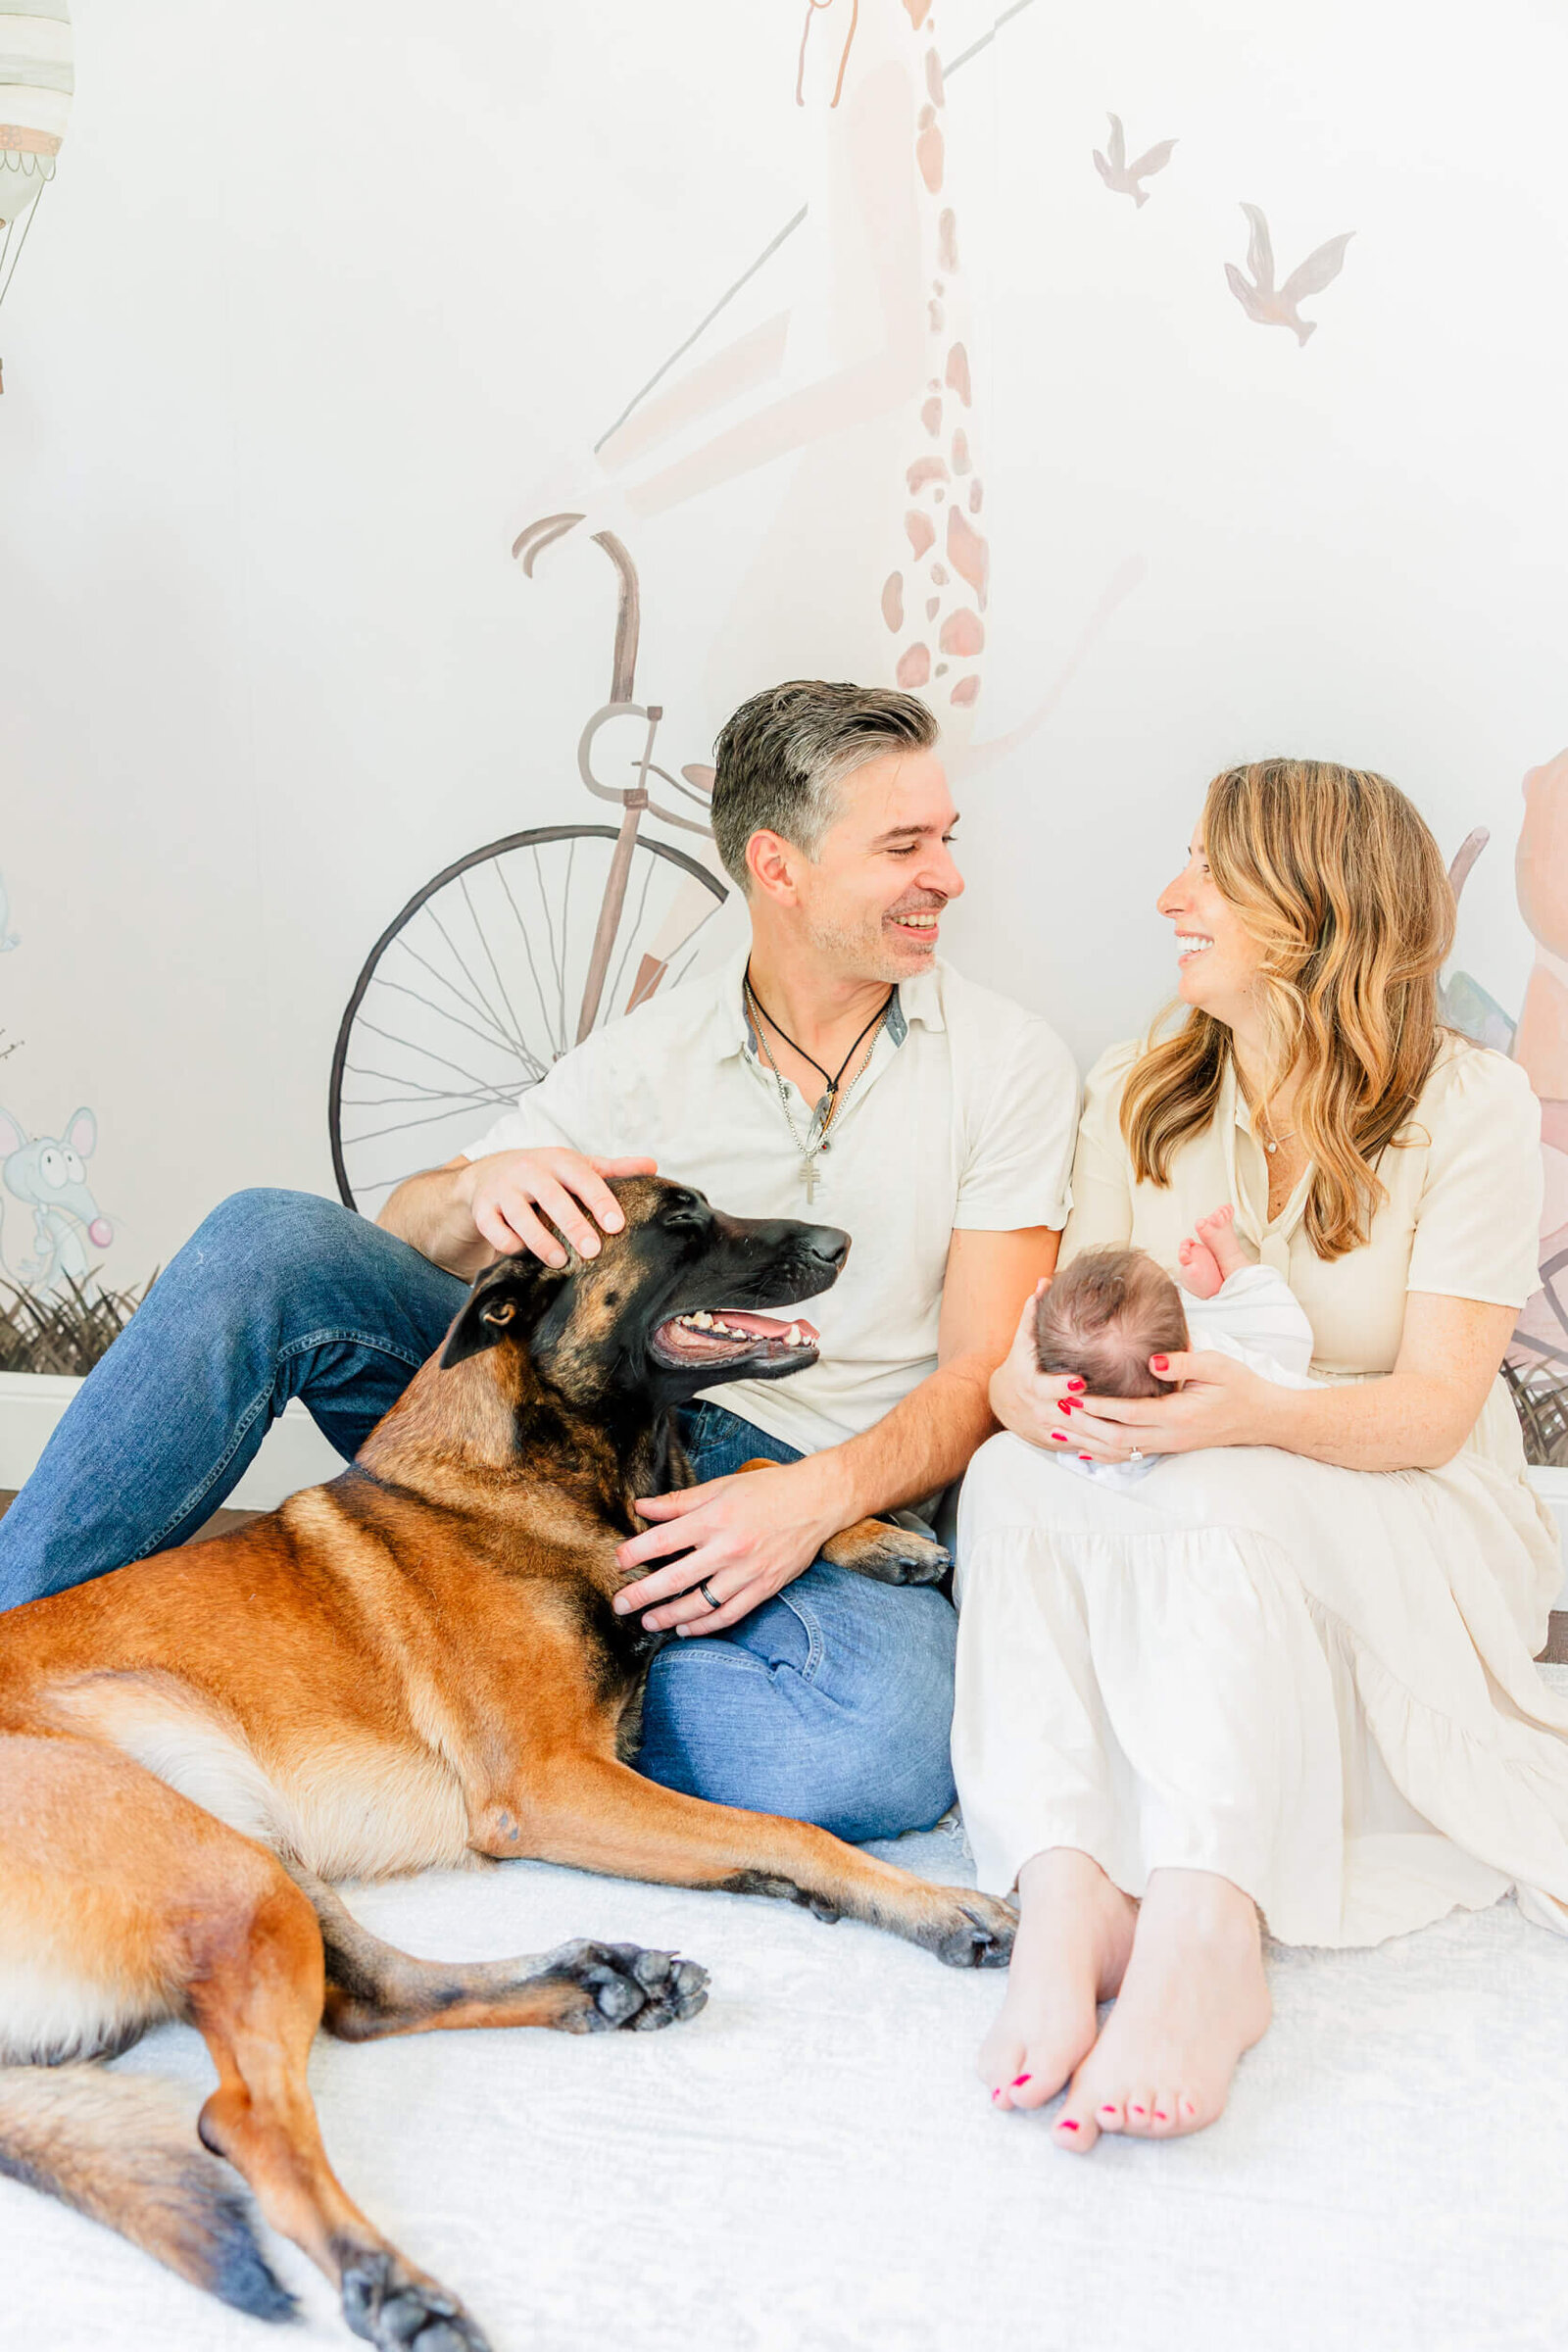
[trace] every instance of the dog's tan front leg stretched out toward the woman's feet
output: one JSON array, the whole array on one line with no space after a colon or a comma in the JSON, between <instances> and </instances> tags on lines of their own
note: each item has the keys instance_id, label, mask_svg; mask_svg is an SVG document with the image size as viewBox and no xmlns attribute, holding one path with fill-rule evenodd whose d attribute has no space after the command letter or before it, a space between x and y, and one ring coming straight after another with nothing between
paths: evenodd
<instances>
[{"instance_id":1,"label":"dog's tan front leg stretched out toward the woman's feet","mask_svg":"<svg viewBox=\"0 0 1568 2352\"><path fill-rule=\"evenodd\" d=\"M520 1844L505 1844L498 1828L512 1816L522 1820ZM552 1752L534 1785L487 1809L475 1844L618 1879L780 1896L818 1919L884 1926L950 1969L1004 1969L1013 1947L1013 1912L994 1896L933 1886L811 1823L682 1797L630 1764L588 1752Z\"/></svg>"}]
</instances>

